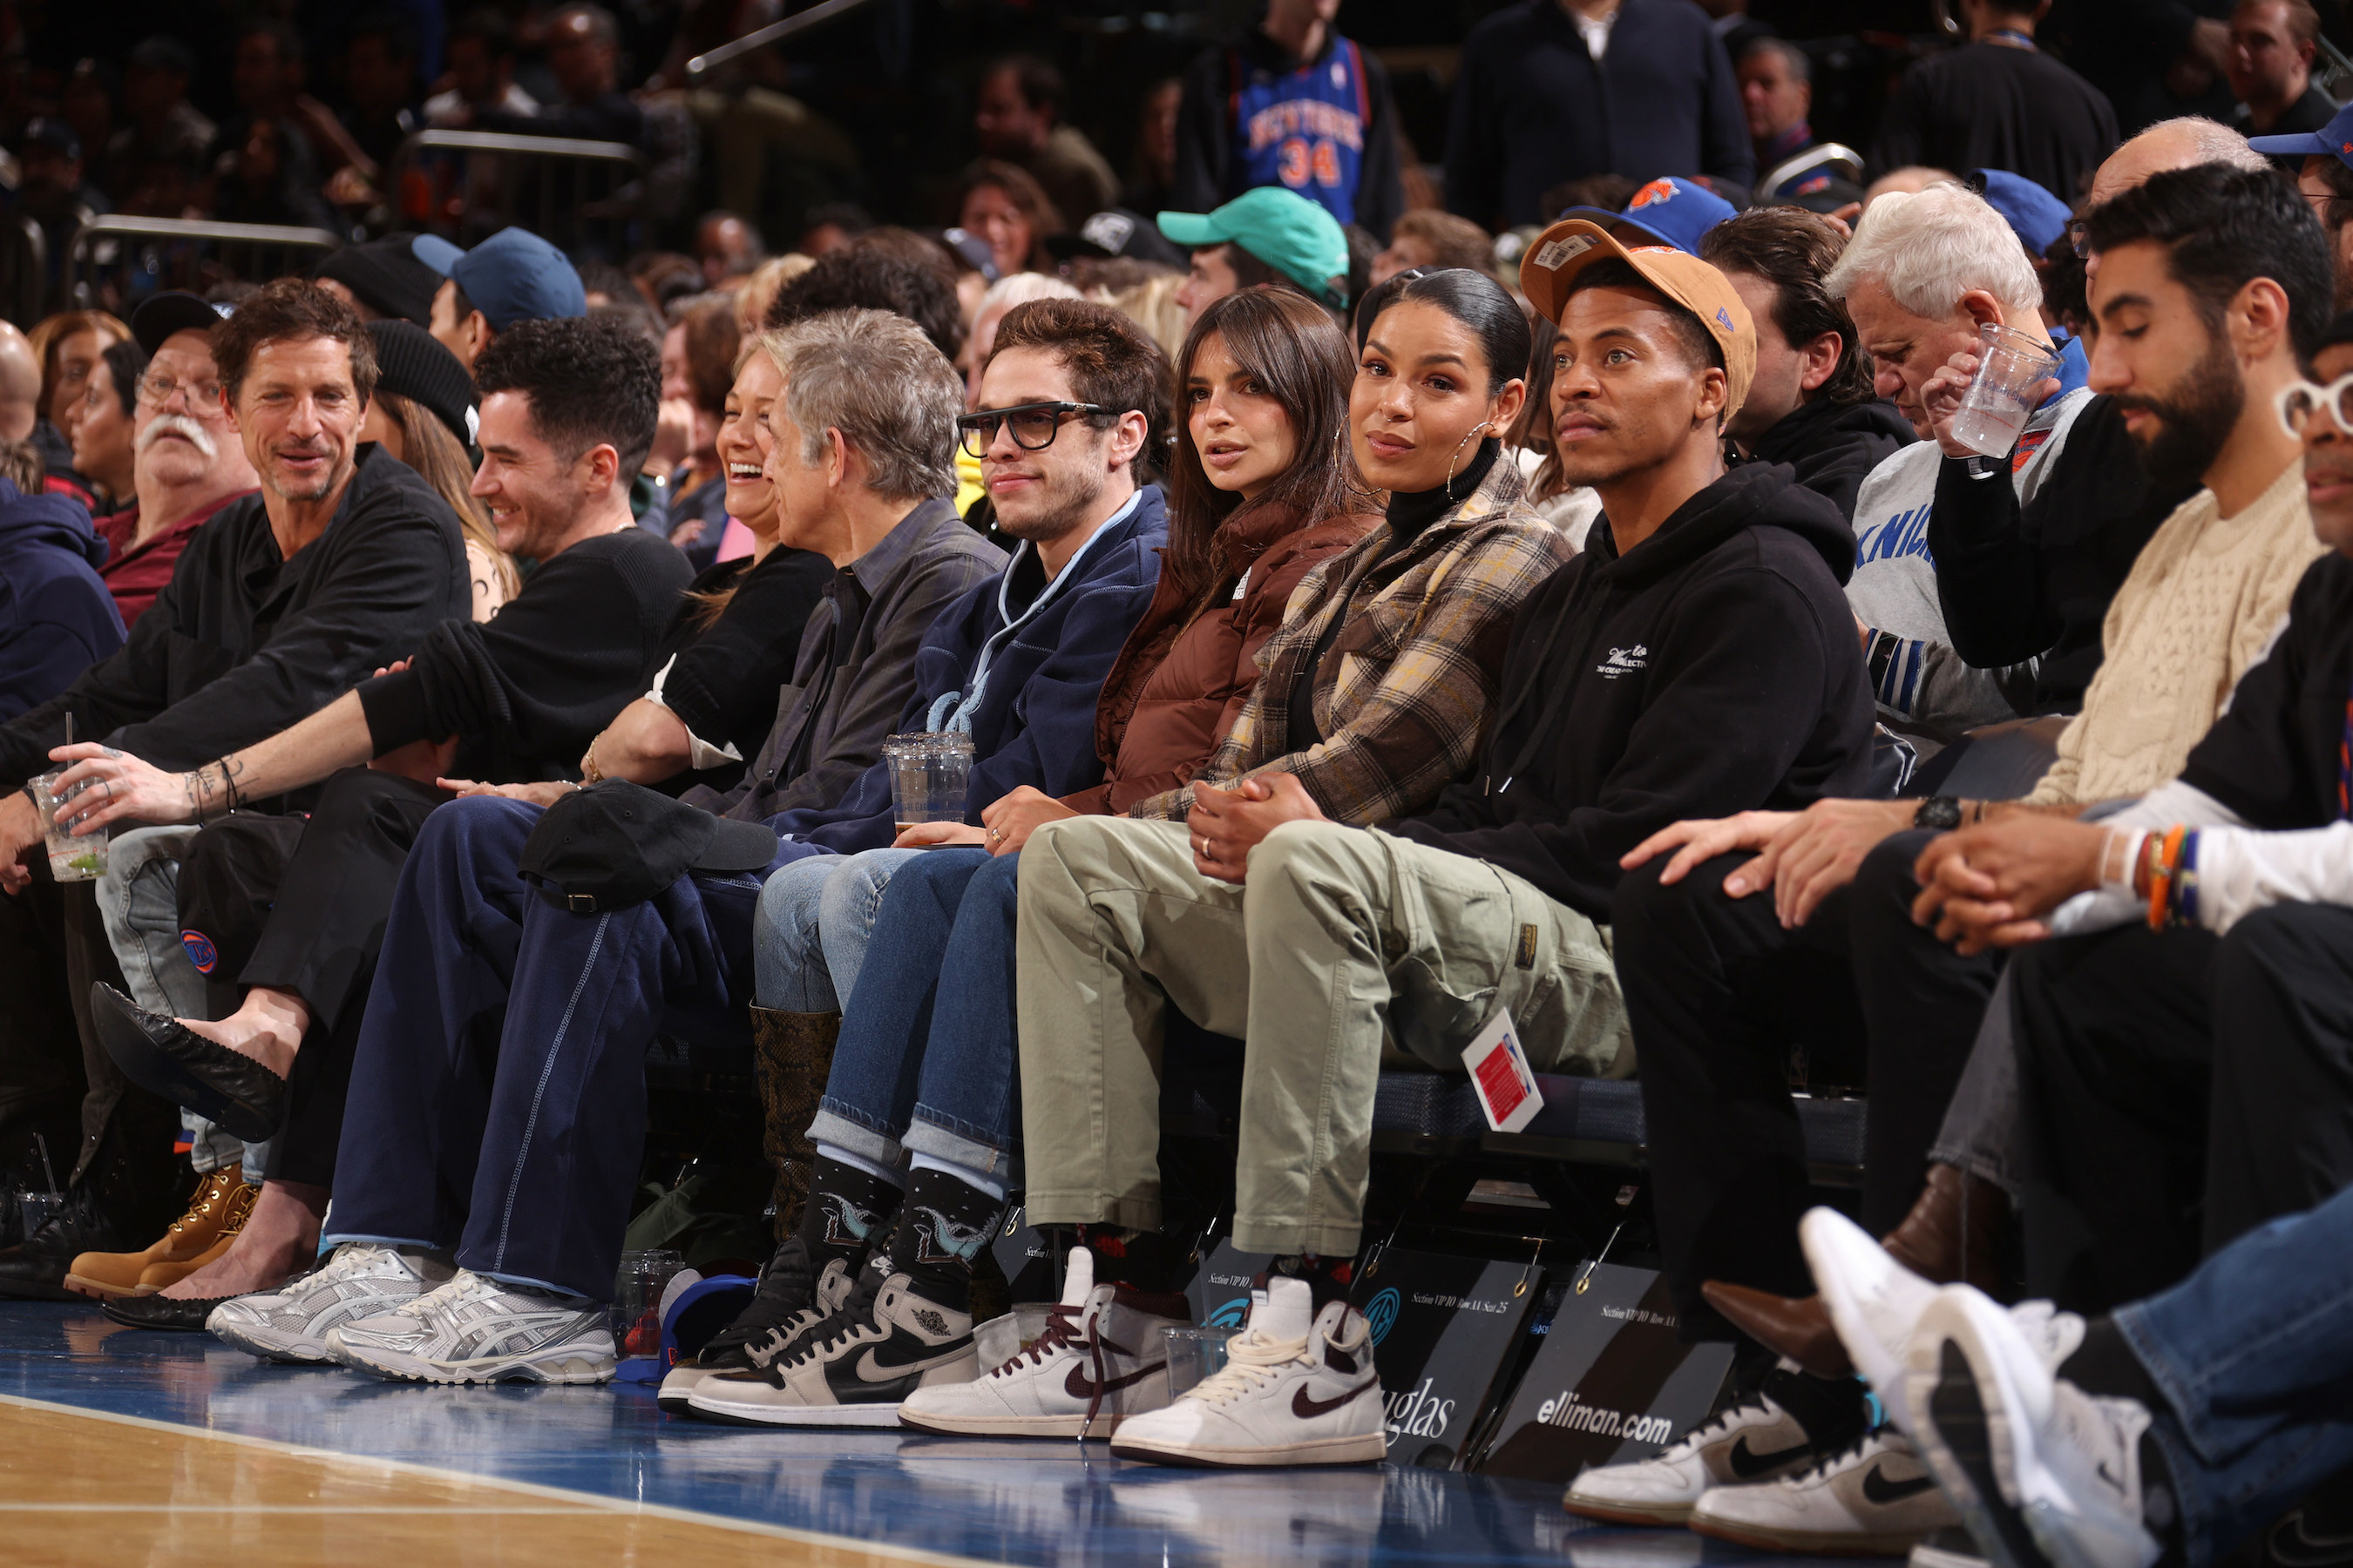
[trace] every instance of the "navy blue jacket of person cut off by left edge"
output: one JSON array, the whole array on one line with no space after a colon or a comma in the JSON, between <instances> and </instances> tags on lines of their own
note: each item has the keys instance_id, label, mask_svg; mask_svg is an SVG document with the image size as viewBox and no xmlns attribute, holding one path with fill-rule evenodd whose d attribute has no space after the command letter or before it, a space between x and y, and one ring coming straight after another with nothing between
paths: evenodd
<instances>
[{"instance_id":1,"label":"navy blue jacket of person cut off by left edge","mask_svg":"<svg viewBox=\"0 0 2353 1568\"><path fill-rule=\"evenodd\" d=\"M0 480L0 722L122 646L122 611L96 574L104 559L80 501Z\"/></svg>"}]
</instances>

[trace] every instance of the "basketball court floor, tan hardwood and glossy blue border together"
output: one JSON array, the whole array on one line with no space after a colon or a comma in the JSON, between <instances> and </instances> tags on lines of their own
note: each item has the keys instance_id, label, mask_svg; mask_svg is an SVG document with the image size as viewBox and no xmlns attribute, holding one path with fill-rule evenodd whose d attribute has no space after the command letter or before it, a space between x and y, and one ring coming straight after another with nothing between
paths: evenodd
<instances>
[{"instance_id":1,"label":"basketball court floor, tan hardwood and glossy blue border together","mask_svg":"<svg viewBox=\"0 0 2353 1568\"><path fill-rule=\"evenodd\" d=\"M1732 1568L1553 1486L1186 1472L1101 1443L746 1432L649 1385L440 1389L264 1366L94 1307L0 1302L0 1563L1574 1563Z\"/></svg>"}]
</instances>

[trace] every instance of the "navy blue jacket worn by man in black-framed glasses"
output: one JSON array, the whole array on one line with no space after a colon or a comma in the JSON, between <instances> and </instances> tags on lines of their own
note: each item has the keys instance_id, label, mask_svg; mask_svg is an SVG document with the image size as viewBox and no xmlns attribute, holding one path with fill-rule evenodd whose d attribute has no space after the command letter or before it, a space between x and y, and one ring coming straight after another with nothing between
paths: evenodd
<instances>
[{"instance_id":1,"label":"navy blue jacket worn by man in black-framed glasses","mask_svg":"<svg viewBox=\"0 0 2353 1568\"><path fill-rule=\"evenodd\" d=\"M1167 505L1146 487L1136 508L1087 541L1064 567L1054 597L998 646L979 708L972 712L972 783L965 820L1019 785L1061 799L1104 780L1094 750L1094 703L1127 632L1144 618L1160 585L1160 545ZM915 701L901 731L929 729L932 708L967 691L981 646L1005 630L1002 590L1021 604L1040 581L1038 550L1021 545L1014 562L941 611L915 651ZM1019 607L1016 607L1019 616ZM854 856L882 849L892 832L889 771L878 762L831 806L786 811L767 825L802 844Z\"/></svg>"}]
</instances>

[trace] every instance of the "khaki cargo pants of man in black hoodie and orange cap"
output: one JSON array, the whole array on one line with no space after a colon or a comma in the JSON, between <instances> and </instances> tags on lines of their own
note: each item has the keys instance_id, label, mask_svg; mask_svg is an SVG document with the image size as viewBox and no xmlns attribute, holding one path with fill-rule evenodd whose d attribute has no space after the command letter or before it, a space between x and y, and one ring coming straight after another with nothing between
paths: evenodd
<instances>
[{"instance_id":1,"label":"khaki cargo pants of man in black hoodie and orange cap","mask_svg":"<svg viewBox=\"0 0 2353 1568\"><path fill-rule=\"evenodd\" d=\"M1358 1251L1384 1030L1431 1067L1508 1006L1537 1070L1631 1077L1609 933L1485 860L1285 823L1247 886L1184 823L1073 818L1021 851L1033 1225L1160 1225L1162 1011L1240 1037L1233 1244Z\"/></svg>"}]
</instances>

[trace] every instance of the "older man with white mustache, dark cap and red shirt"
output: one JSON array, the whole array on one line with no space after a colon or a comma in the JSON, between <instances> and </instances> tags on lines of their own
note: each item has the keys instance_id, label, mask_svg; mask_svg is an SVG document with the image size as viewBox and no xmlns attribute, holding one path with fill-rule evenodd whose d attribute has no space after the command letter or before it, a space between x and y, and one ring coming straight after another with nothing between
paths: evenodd
<instances>
[{"instance_id":1,"label":"older man with white mustache, dark cap and red shirt","mask_svg":"<svg viewBox=\"0 0 2353 1568\"><path fill-rule=\"evenodd\" d=\"M99 576L125 628L172 581L188 536L259 484L221 407L212 324L186 310L141 313L132 334L148 353L132 416L136 503L99 520L99 538L111 545Z\"/></svg>"}]
</instances>

